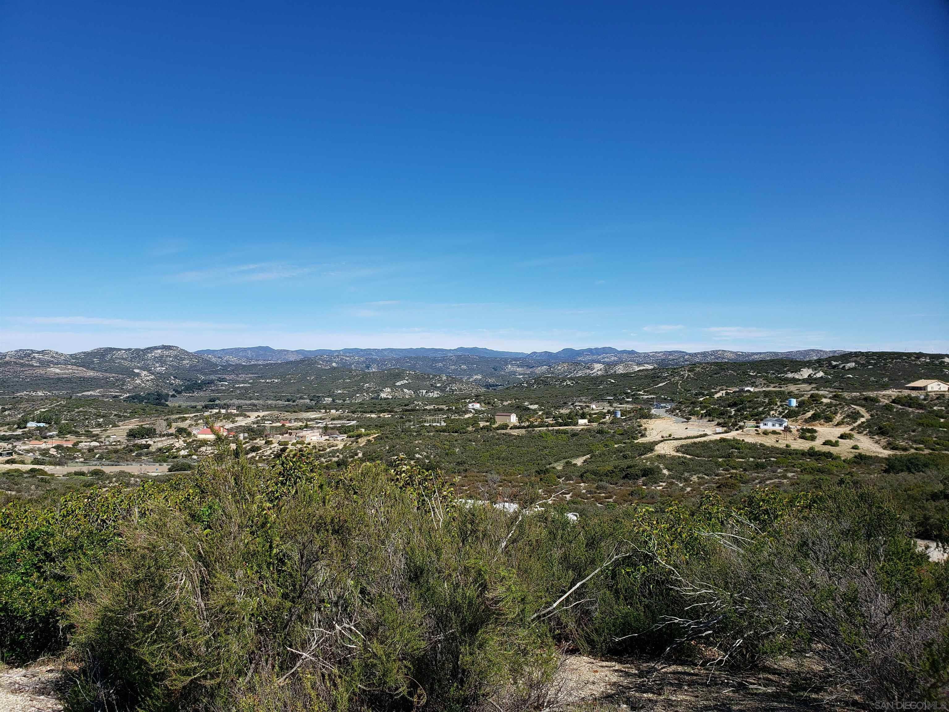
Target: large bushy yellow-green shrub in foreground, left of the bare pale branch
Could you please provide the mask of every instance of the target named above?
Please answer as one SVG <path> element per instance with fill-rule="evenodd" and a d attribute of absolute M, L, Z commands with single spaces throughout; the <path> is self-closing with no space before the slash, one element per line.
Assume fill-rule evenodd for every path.
<path fill-rule="evenodd" d="M 74 706 L 460 709 L 549 680 L 544 601 L 499 547 L 507 515 L 456 508 L 409 465 L 231 459 L 194 488 L 85 572 Z"/>

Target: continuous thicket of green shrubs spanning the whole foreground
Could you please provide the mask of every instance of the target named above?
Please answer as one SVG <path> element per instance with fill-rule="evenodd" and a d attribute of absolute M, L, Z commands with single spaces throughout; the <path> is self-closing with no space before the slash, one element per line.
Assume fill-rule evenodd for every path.
<path fill-rule="evenodd" d="M 25 659 L 68 642 L 73 710 L 541 708 L 558 646 L 688 658 L 694 642 L 714 666 L 809 652 L 867 699 L 945 691 L 949 573 L 907 536 L 949 522 L 942 460 L 686 449 L 824 478 L 855 461 L 902 499 L 826 479 L 732 504 L 573 500 L 574 521 L 563 503 L 462 506 L 403 459 L 257 467 L 222 445 L 164 484 L 0 510 L 0 643 Z M 717 473 L 693 459 L 617 476 Z"/>

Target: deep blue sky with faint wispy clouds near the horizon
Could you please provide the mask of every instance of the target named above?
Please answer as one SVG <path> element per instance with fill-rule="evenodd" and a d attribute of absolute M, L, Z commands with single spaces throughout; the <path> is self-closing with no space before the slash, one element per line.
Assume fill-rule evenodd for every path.
<path fill-rule="evenodd" d="M 0 8 L 0 350 L 949 351 L 940 0 Z"/>

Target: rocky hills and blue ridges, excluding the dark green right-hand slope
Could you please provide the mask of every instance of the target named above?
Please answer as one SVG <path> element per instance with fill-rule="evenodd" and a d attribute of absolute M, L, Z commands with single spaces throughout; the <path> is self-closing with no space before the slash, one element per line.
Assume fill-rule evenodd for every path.
<path fill-rule="evenodd" d="M 381 389 L 394 387 L 403 381 L 408 383 L 405 374 L 414 372 L 427 377 L 413 380 L 414 389 L 419 392 L 477 392 L 483 388 L 523 383 L 539 376 L 596 376 L 662 366 L 770 359 L 810 361 L 842 353 L 844 351 L 818 349 L 763 353 L 723 350 L 638 352 L 613 347 L 531 353 L 478 347 L 336 350 L 250 347 L 204 349 L 192 353 L 179 347 L 159 346 L 94 348 L 65 354 L 27 348 L 0 353 L 0 393 L 121 396 L 143 391 L 187 390 L 209 380 L 227 383 L 229 379 L 250 378 L 250 383 L 265 383 L 272 376 L 277 379 L 273 383 L 286 383 L 285 380 L 294 372 L 306 373 L 307 379 L 321 381 L 323 376 L 320 374 L 326 369 L 334 369 L 336 375 L 333 378 L 339 379 L 344 379 L 344 371 L 350 374 L 349 378 L 353 372 L 401 372 L 392 384 L 384 379 L 377 379 L 378 383 L 367 380 L 366 388 L 369 384 Z"/>

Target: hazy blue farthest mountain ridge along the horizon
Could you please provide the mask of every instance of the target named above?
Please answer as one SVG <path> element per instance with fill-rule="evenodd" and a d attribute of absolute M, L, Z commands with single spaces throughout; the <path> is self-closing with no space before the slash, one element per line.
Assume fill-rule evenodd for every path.
<path fill-rule="evenodd" d="M 298 348 L 271 347 L 235 347 L 235 348 L 203 348 L 195 351 L 196 354 L 209 358 L 218 364 L 270 364 L 284 363 L 311 359 L 317 356 L 348 356 L 367 360 L 372 359 L 439 359 L 453 356 L 479 356 L 490 359 L 530 360 L 550 362 L 555 364 L 579 362 L 602 362 L 609 364 L 637 363 L 652 364 L 668 362 L 679 365 L 688 361 L 695 364 L 707 364 L 718 361 L 765 361 L 768 359 L 793 359 L 807 361 L 828 356 L 837 356 L 845 353 L 842 350 L 823 350 L 808 348 L 798 351 L 634 351 L 614 347 L 592 348 L 562 348 L 559 351 L 495 351 L 491 348 L 458 347 L 458 348 L 317 348 L 307 350 Z"/>

